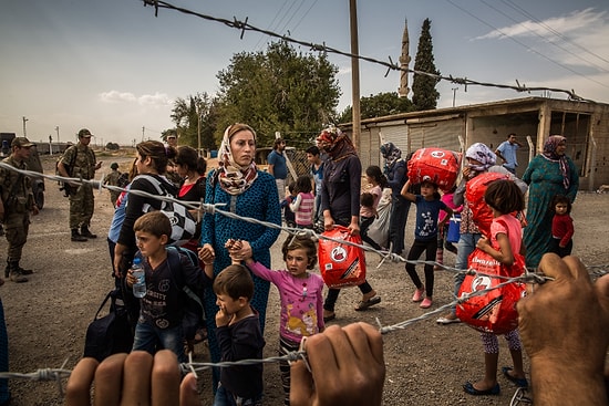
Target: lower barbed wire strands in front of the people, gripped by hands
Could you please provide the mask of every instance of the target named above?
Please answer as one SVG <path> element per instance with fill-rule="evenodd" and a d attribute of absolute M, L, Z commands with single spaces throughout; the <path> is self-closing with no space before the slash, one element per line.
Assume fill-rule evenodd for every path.
<path fill-rule="evenodd" d="M 11 166 L 7 163 L 3 163 L 3 162 L 0 162 L 0 168 L 13 170 L 13 171 L 22 174 L 24 176 L 44 178 L 44 179 L 49 179 L 49 180 L 52 180 L 52 181 L 71 183 L 73 185 L 75 185 L 75 184 L 78 184 L 78 185 L 87 184 L 87 185 L 91 185 L 94 189 L 97 189 L 99 191 L 101 191 L 102 189 L 109 189 L 109 190 L 115 190 L 115 191 L 123 191 L 124 190 L 123 188 L 120 188 L 120 187 L 116 187 L 116 186 L 103 185 L 103 181 L 96 180 L 96 179 L 87 180 L 87 179 L 82 179 L 82 178 L 70 178 L 70 177 L 63 177 L 63 176 L 56 176 L 56 175 L 40 174 L 40 173 L 37 173 L 37 171 L 32 171 L 32 170 L 18 169 L 18 168 L 14 168 L 13 166 Z M 310 237 L 310 238 L 318 239 L 318 240 L 319 239 L 327 239 L 327 240 L 334 241 L 334 242 L 338 242 L 338 243 L 341 243 L 341 244 L 361 248 L 364 251 L 371 251 L 371 252 L 378 253 L 381 258 L 381 261 L 380 261 L 381 263 L 383 263 L 384 261 L 392 261 L 392 262 L 409 262 L 409 263 L 414 263 L 414 264 L 433 264 L 433 266 L 441 267 L 443 270 L 454 272 L 455 274 L 456 273 L 463 273 L 463 274 L 481 275 L 481 277 L 495 278 L 495 279 L 500 279 L 502 280 L 502 282 L 496 284 L 495 287 L 487 288 L 487 289 L 482 289 L 482 290 L 478 290 L 478 291 L 475 291 L 475 292 L 472 292 L 472 293 L 467 293 L 467 294 L 463 294 L 460 298 L 454 298 L 454 300 L 452 302 L 450 302 L 445 305 L 442 305 L 442 306 L 440 306 L 437 309 L 434 309 L 432 311 L 427 311 L 426 313 L 424 313 L 424 314 L 422 314 L 417 317 L 409 319 L 409 320 L 405 320 L 405 321 L 402 321 L 402 322 L 399 322 L 399 323 L 395 323 L 395 324 L 392 324 L 392 325 L 383 325 L 381 323 L 380 319 L 376 317 L 376 324 L 378 324 L 378 327 L 379 327 L 379 332 L 381 332 L 381 334 L 389 334 L 389 333 L 393 333 L 393 332 L 396 332 L 396 331 L 405 330 L 409 326 L 411 326 L 412 324 L 415 324 L 417 322 L 427 320 L 427 319 L 430 319 L 430 317 L 432 317 L 436 314 L 440 314 L 444 311 L 447 311 L 447 310 L 450 310 L 450 309 L 452 309 L 456 305 L 460 305 L 461 303 L 466 302 L 467 300 L 469 300 L 474 296 L 485 295 L 486 293 L 488 293 L 493 290 L 496 290 L 496 289 L 500 289 L 502 287 L 504 287 L 506 284 L 510 284 L 510 283 L 545 283 L 546 281 L 551 280 L 551 278 L 548 278 L 548 277 L 546 277 L 544 274 L 540 274 L 540 273 L 529 272 L 528 270 L 526 270 L 525 273 L 520 277 L 508 278 L 508 277 L 502 277 L 502 275 L 497 275 L 497 274 L 488 274 L 488 273 L 484 273 L 484 272 L 478 272 L 478 271 L 476 271 L 475 269 L 472 269 L 472 268 L 468 269 L 468 270 L 460 270 L 460 269 L 456 269 L 456 268 L 452 268 L 452 267 L 447 267 L 445 264 L 437 263 L 435 261 L 420 261 L 420 260 L 411 261 L 411 260 L 404 259 L 403 257 L 401 257 L 396 253 L 389 253 L 389 252 L 385 252 L 385 251 L 379 251 L 379 250 L 375 250 L 374 248 L 363 246 L 363 244 L 359 244 L 359 243 L 355 243 L 355 242 L 352 242 L 352 241 L 345 241 L 345 240 L 341 240 L 341 239 L 330 238 L 330 237 L 324 236 L 323 233 L 317 233 L 313 230 L 290 228 L 290 227 L 285 227 L 285 226 L 281 226 L 281 225 L 268 222 L 268 221 L 261 221 L 261 220 L 254 219 L 254 218 L 238 216 L 234 212 L 223 210 L 224 204 L 209 205 L 209 204 L 205 204 L 203 201 L 184 201 L 184 200 L 176 199 L 173 196 L 152 195 L 152 194 L 148 194 L 148 192 L 145 192 L 145 191 L 142 191 L 142 190 L 128 190 L 127 192 L 138 195 L 138 196 L 143 196 L 143 197 L 151 198 L 151 199 L 157 199 L 157 200 L 163 200 L 163 201 L 171 201 L 171 202 L 178 204 L 178 205 L 184 205 L 188 209 L 197 210 L 200 215 L 203 215 L 203 214 L 209 214 L 209 215 L 220 214 L 223 216 L 226 216 L 226 217 L 229 217 L 229 218 L 233 218 L 233 219 L 236 219 L 236 220 L 247 221 L 247 222 L 251 222 L 251 223 L 256 223 L 256 225 L 262 225 L 262 226 L 269 227 L 269 228 L 279 229 L 279 230 L 286 231 L 286 232 L 288 232 L 289 235 L 292 235 L 292 236 L 296 236 L 296 235 L 306 236 L 306 237 Z M 609 273 L 609 270 L 608 270 L 609 264 L 592 264 L 592 266 L 587 266 L 587 269 L 589 270 L 589 273 L 590 273 L 590 275 L 593 280 Z M 196 375 L 198 372 L 209 369 L 211 367 L 229 367 L 229 366 L 236 366 L 236 365 L 254 365 L 254 364 L 259 364 L 259 363 L 268 364 L 268 363 L 278 363 L 278 362 L 281 362 L 281 361 L 295 362 L 295 361 L 298 361 L 298 360 L 303 360 L 304 362 L 307 362 L 307 353 L 304 351 L 298 351 L 298 352 L 289 353 L 287 355 L 272 356 L 272 357 L 267 357 L 267 358 L 262 358 L 262 360 L 241 360 L 241 361 L 237 361 L 237 362 L 219 362 L 219 363 L 196 363 L 196 362 L 193 362 L 193 360 L 190 357 L 187 363 L 183 363 L 180 365 L 180 369 L 183 371 L 183 373 L 193 372 Z M 63 396 L 62 379 L 70 377 L 70 374 L 72 372 L 72 371 L 65 368 L 66 363 L 68 363 L 68 360 L 59 368 L 39 368 L 38 371 L 32 372 L 32 373 L 0 372 L 0 378 L 28 379 L 28 381 L 37 381 L 37 382 L 52 382 L 52 381 L 55 381 L 58 383 L 58 391 L 59 391 L 60 395 Z M 531 404 L 530 397 L 528 396 L 527 391 L 524 389 L 524 388 L 518 388 L 516 391 L 516 393 L 514 394 L 514 396 L 512 398 L 510 405 L 518 405 L 520 403 Z"/>

